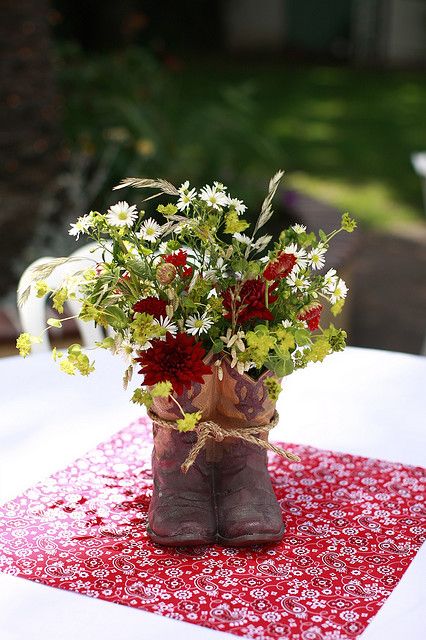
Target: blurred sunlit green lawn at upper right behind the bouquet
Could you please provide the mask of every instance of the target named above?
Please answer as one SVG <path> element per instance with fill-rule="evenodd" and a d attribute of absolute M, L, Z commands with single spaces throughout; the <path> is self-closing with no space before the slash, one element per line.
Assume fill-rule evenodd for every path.
<path fill-rule="evenodd" d="M 287 184 L 371 226 L 424 219 L 410 163 L 411 152 L 426 150 L 424 74 L 217 63 L 181 73 L 192 102 L 244 81 L 255 90 L 259 127 L 279 141 Z"/>

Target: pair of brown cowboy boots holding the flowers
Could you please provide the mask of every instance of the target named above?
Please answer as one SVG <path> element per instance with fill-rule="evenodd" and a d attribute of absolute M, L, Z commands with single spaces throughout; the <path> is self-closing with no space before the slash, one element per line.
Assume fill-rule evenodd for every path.
<path fill-rule="evenodd" d="M 265 377 L 255 381 L 240 375 L 227 361 L 222 368 L 221 381 L 215 372 L 205 377 L 205 384 L 194 384 L 177 398 L 183 409 L 202 411 L 203 420 L 225 429 L 269 423 L 275 406 L 263 384 Z M 160 418 L 179 417 L 171 400 L 156 398 L 152 408 Z M 281 540 L 284 524 L 264 449 L 240 438 L 210 439 L 183 473 L 181 465 L 197 434 L 180 433 L 155 421 L 153 429 L 148 534 L 154 542 L 246 546 Z"/>

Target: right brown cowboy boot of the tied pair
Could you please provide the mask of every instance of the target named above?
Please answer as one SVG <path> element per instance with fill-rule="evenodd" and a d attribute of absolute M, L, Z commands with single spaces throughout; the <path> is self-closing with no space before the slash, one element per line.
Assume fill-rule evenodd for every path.
<path fill-rule="evenodd" d="M 224 428 L 268 424 L 275 404 L 263 382 L 271 374 L 253 380 L 232 369 L 227 360 L 222 361 L 222 370 L 214 419 Z M 226 438 L 219 447 L 214 470 L 218 542 L 247 546 L 280 541 L 285 527 L 265 449 L 240 438 Z"/>

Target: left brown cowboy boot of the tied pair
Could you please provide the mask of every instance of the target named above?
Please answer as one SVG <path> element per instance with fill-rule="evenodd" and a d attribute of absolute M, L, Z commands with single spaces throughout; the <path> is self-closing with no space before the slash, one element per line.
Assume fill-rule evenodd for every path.
<path fill-rule="evenodd" d="M 194 384 L 177 397 L 186 412 L 202 411 L 208 418 L 213 394 L 209 379 Z M 155 398 L 153 411 L 166 420 L 181 417 L 176 404 Z M 213 465 L 202 451 L 187 473 L 181 470 L 197 436 L 173 428 L 153 425 L 153 495 L 148 510 L 148 535 L 158 544 L 179 546 L 212 544 L 216 539 L 216 515 L 213 502 Z"/>

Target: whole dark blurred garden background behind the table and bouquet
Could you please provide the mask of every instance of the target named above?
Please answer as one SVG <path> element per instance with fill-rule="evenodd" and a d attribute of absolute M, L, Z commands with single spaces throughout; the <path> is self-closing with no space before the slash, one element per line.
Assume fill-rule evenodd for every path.
<path fill-rule="evenodd" d="M 3 0 L 0 46 L 0 353 L 19 274 L 121 178 L 220 180 L 254 218 L 278 168 L 272 231 L 359 222 L 350 344 L 424 348 L 424 0 Z"/>

